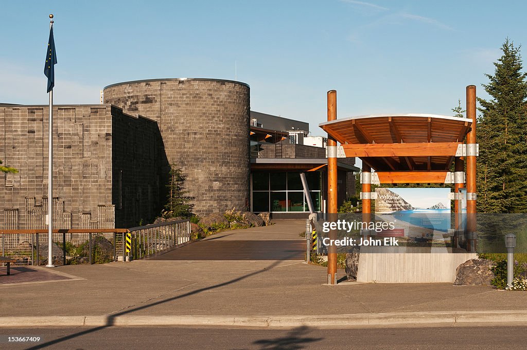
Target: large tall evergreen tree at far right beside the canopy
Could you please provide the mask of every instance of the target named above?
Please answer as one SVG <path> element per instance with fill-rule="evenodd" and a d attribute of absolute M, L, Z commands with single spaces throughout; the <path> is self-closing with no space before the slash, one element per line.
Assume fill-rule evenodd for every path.
<path fill-rule="evenodd" d="M 494 75 L 485 74 L 489 83 L 483 84 L 492 99 L 478 99 L 482 114 L 477 121 L 477 206 L 482 212 L 525 212 L 527 74 L 521 72 L 520 47 L 507 38 L 501 50 Z"/>

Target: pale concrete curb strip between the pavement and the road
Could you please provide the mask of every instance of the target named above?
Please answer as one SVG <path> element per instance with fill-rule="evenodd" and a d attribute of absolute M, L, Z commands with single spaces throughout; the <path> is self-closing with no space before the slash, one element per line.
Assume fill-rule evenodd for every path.
<path fill-rule="evenodd" d="M 0 317 L 1 327 L 436 327 L 438 325 L 526 324 L 527 310 L 414 312 L 293 316 L 13 316 Z"/>

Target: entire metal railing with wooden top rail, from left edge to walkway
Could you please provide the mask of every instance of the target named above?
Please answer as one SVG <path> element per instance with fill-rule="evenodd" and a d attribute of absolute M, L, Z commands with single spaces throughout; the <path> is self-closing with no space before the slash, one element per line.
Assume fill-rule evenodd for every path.
<path fill-rule="evenodd" d="M 126 241 L 130 249 L 126 249 Z M 178 220 L 131 229 L 53 230 L 54 265 L 102 264 L 141 259 L 190 240 L 190 221 Z M 47 230 L 0 229 L 0 254 L 16 259 L 15 265 L 47 263 Z M 128 257 L 128 258 L 127 258 Z"/>

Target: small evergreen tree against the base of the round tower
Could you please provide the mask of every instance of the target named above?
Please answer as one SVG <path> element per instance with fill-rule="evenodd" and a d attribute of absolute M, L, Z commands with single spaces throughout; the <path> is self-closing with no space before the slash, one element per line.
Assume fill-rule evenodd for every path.
<path fill-rule="evenodd" d="M 193 203 L 190 203 L 194 197 L 188 196 L 188 191 L 184 190 L 183 184 L 187 177 L 184 176 L 183 170 L 171 166 L 169 173 L 168 198 L 164 218 L 190 218 L 192 216 Z"/>

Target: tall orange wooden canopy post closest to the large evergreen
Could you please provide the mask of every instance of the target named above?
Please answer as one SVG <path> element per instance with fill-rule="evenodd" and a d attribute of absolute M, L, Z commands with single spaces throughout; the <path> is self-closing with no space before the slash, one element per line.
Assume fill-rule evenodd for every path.
<path fill-rule="evenodd" d="M 472 128 L 466 137 L 467 251 L 476 251 L 476 86 L 466 87 L 466 116 Z"/>

